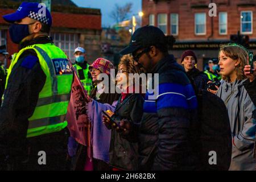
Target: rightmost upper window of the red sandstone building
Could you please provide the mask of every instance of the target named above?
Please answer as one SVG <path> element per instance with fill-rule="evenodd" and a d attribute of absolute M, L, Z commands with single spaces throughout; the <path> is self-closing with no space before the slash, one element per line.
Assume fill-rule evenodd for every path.
<path fill-rule="evenodd" d="M 253 12 L 241 11 L 241 33 L 253 34 Z"/>

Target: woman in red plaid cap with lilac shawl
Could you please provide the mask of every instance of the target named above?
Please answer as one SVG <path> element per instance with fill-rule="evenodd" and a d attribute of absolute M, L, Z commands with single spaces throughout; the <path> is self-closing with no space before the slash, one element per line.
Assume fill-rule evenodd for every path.
<path fill-rule="evenodd" d="M 91 102 L 88 103 L 88 117 L 92 123 L 91 136 L 92 136 L 92 148 L 93 148 L 93 170 L 94 171 L 109 171 L 109 145 L 110 145 L 110 130 L 106 129 L 102 122 L 102 110 L 113 109 L 114 105 L 118 101 L 120 94 L 117 92 L 110 92 L 110 70 L 114 69 L 114 65 L 111 61 L 104 58 L 98 58 L 89 66 L 90 74 L 92 75 L 92 81 L 94 88 L 90 92 Z M 104 80 L 100 78 L 100 74 L 108 75 L 109 90 L 104 85 Z M 114 104 L 115 103 L 115 104 Z M 114 105 L 113 105 L 114 104 Z M 112 106 L 113 105 L 113 106 Z M 108 108 L 108 109 L 106 109 Z M 85 168 L 85 156 L 86 147 L 79 145 L 77 147 L 75 156 L 75 163 L 73 169 L 84 170 Z"/>

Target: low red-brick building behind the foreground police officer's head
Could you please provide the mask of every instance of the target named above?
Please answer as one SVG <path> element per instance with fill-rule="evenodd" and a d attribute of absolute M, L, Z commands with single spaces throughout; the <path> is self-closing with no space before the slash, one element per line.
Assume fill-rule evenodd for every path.
<path fill-rule="evenodd" d="M 2 15 L 16 11 L 21 2 L 0 1 L 0 45 L 6 44 L 10 55 L 18 51 L 18 45 L 11 42 L 8 31 L 9 23 L 3 20 Z M 52 0 L 51 14 L 53 42 L 63 49 L 72 60 L 73 51 L 78 46 L 84 47 L 88 52 L 89 63 L 101 56 L 100 9 L 77 7 L 69 0 Z"/>

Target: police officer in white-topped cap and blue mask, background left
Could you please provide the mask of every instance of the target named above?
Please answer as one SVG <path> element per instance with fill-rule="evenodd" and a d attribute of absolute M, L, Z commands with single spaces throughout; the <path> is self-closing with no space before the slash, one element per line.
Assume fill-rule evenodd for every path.
<path fill-rule="evenodd" d="M 86 51 L 82 47 L 77 47 L 74 51 L 74 56 L 76 59 L 76 63 L 73 65 L 77 75 L 84 85 L 85 90 L 90 94 L 90 90 L 92 90 L 92 76 L 89 71 L 89 64 L 86 61 Z"/>

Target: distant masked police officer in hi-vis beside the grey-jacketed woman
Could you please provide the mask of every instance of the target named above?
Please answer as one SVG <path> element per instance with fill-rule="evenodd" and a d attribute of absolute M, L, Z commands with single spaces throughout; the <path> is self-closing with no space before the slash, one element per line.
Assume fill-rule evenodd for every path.
<path fill-rule="evenodd" d="M 208 61 L 209 68 L 204 72 L 209 80 L 211 81 L 220 81 L 221 76 L 218 74 L 218 71 L 220 70 L 220 67 L 218 66 L 218 59 L 210 59 Z"/>

